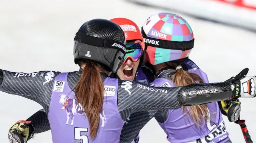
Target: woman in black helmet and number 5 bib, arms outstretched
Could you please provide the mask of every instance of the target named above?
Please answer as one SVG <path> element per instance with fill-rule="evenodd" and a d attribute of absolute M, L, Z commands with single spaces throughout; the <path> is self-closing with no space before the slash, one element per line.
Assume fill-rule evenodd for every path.
<path fill-rule="evenodd" d="M 240 83 L 240 79 L 235 79 L 223 83 L 160 88 L 109 78 L 112 71 L 118 70 L 125 54 L 124 33 L 109 20 L 93 19 L 84 23 L 74 41 L 75 63 L 80 66 L 78 72 L 41 71 L 26 74 L 0 71 L 1 91 L 26 97 L 44 106 L 54 143 L 77 140 L 119 142 L 124 121 L 131 113 L 220 101 L 236 96 L 233 83 Z M 41 78 L 42 75 L 45 78 Z M 255 77 L 241 80 L 251 78 Z M 190 91 L 198 89 L 221 92 L 209 93 L 207 97 L 205 94 L 189 97 Z M 247 95 L 241 93 L 238 96 Z M 205 100 L 197 102 L 195 99 L 198 97 Z M 15 134 L 13 131 L 11 139 L 20 140 L 17 138 L 20 136 Z"/>

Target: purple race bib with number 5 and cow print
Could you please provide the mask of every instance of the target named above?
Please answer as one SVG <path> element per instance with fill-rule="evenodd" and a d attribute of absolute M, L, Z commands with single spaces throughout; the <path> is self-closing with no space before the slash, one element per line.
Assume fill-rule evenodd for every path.
<path fill-rule="evenodd" d="M 105 92 L 97 136 L 89 135 L 89 121 L 75 93 L 67 82 L 68 73 L 60 73 L 54 80 L 48 119 L 53 143 L 57 142 L 109 142 L 119 143 L 124 121 L 117 107 L 118 80 L 107 77 L 103 82 Z"/>

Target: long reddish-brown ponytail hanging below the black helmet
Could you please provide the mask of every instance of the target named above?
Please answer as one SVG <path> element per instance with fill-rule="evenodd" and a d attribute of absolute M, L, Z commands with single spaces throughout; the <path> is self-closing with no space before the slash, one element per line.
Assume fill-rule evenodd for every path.
<path fill-rule="evenodd" d="M 103 104 L 104 85 L 100 75 L 100 66 L 91 61 L 86 63 L 76 84 L 75 97 L 87 114 L 90 123 L 90 136 L 95 138 Z"/>

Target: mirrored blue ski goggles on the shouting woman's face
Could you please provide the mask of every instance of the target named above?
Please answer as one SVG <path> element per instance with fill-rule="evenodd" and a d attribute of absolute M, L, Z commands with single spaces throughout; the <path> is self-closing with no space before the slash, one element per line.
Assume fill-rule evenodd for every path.
<path fill-rule="evenodd" d="M 126 62 L 127 59 L 131 59 L 131 61 L 133 62 L 137 62 L 142 54 L 143 54 L 143 50 L 142 50 L 142 43 L 139 41 L 135 41 L 134 43 L 127 43 L 126 44 L 126 54 L 124 56 L 124 62 Z"/>

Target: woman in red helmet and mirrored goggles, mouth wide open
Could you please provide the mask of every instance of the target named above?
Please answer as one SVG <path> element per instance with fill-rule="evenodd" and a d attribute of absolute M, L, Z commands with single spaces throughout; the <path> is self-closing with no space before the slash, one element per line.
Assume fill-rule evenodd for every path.
<path fill-rule="evenodd" d="M 110 21 L 115 22 L 122 28 L 126 38 L 126 54 L 124 56 L 124 62 L 118 71 L 116 73 L 112 73 L 110 76 L 121 80 L 134 80 L 145 84 L 154 81 L 152 71 L 147 67 L 142 66 L 144 40 L 138 25 L 127 18 L 113 18 L 110 19 Z M 129 119 L 126 120 L 126 123 L 128 120 Z M 25 128 L 21 128 L 20 126 L 25 126 Z M 9 132 L 18 130 L 20 134 L 24 135 L 24 140 L 28 140 L 27 138 L 29 137 L 29 134 L 41 133 L 50 129 L 51 127 L 47 114 L 44 109 L 41 109 L 26 121 L 19 121 L 18 123 L 15 123 L 9 129 Z"/>

